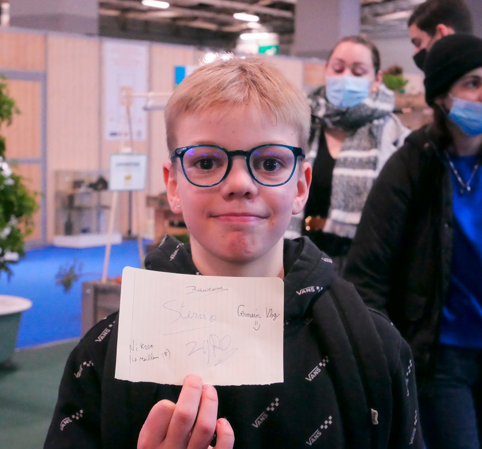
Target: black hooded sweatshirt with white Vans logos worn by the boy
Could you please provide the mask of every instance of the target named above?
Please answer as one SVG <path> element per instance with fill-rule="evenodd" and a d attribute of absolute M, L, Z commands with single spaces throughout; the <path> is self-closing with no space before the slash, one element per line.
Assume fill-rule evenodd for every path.
<path fill-rule="evenodd" d="M 197 273 L 189 246 L 169 237 L 148 255 L 146 267 Z M 284 267 L 284 382 L 217 387 L 218 416 L 231 423 L 235 448 L 423 448 L 411 352 L 400 334 L 381 314 L 368 313 L 308 239 L 285 241 Z M 336 292 L 348 315 L 358 310 L 363 318 L 347 318 L 360 323 L 350 335 L 336 310 Z M 151 407 L 163 398 L 177 400 L 178 386 L 114 378 L 116 319 L 96 324 L 70 355 L 45 448 L 135 448 Z M 349 341 L 354 335 L 361 343 L 357 333 L 370 327 L 376 341 L 357 346 L 369 365 L 359 373 Z M 365 398 L 367 379 L 360 381 L 370 369 L 369 380 L 384 393 L 378 402 L 371 399 L 376 389 Z"/>

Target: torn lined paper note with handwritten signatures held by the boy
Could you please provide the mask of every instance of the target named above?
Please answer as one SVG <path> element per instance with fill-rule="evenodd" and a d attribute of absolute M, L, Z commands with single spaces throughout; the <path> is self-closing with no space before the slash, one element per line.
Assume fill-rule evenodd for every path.
<path fill-rule="evenodd" d="M 126 267 L 115 377 L 182 385 L 283 382 L 283 281 Z"/>

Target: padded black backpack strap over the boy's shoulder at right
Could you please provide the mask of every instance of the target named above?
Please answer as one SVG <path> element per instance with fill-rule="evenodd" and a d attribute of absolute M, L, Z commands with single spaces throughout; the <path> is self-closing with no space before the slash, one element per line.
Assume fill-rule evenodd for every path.
<path fill-rule="evenodd" d="M 351 283 L 336 277 L 330 289 L 315 301 L 313 318 L 330 360 L 345 428 L 349 429 L 348 447 L 387 448 L 393 403 L 391 379 L 367 306 Z"/>

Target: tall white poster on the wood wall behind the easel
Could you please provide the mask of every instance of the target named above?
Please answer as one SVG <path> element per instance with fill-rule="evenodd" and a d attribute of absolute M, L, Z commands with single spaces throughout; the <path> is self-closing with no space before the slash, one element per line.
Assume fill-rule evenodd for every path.
<path fill-rule="evenodd" d="M 123 98 L 125 92 L 148 91 L 148 46 L 104 41 L 104 92 L 106 140 L 130 140 L 126 101 L 130 105 L 132 140 L 147 139 L 147 114 L 142 97 Z"/>

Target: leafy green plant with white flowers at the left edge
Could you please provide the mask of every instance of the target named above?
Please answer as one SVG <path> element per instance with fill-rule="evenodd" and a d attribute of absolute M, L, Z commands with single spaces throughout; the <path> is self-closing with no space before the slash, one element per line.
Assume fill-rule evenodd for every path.
<path fill-rule="evenodd" d="M 8 96 L 5 78 L 0 77 L 0 132 L 16 113 L 19 109 Z M 5 138 L 0 134 L 0 278 L 2 272 L 10 276 L 10 265 L 25 256 L 24 240 L 33 230 L 32 216 L 38 208 L 35 196 L 14 173 L 5 151 Z"/>

